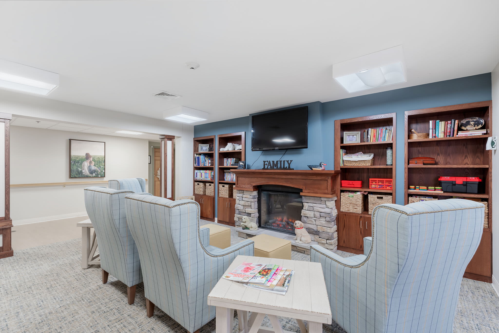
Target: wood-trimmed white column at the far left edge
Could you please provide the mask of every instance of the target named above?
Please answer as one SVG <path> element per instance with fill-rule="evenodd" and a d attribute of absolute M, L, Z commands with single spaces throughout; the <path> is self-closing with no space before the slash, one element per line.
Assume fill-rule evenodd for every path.
<path fill-rule="evenodd" d="M 0 259 L 6 257 L 12 257 L 14 252 L 12 251 L 10 234 L 12 229 L 12 220 L 10 220 L 10 119 L 12 119 L 11 114 L 0 113 L 0 147 L 3 147 L 3 152 L 0 148 L 0 156 L 3 154 L 3 158 L 0 157 L 0 191 L 1 187 L 4 187 L 4 192 L 0 194 L 0 235 L 2 235 L 1 246 L 0 246 Z M 3 141 L 3 142 L 1 142 Z M 3 161 L 1 161 L 3 159 Z M 3 163 L 1 163 L 3 162 Z M 4 177 L 1 177 L 1 174 Z"/>

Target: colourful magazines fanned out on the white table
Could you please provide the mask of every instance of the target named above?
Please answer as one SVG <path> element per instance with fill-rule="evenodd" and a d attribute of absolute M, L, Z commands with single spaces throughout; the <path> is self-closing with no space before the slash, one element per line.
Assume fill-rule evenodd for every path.
<path fill-rule="evenodd" d="M 223 278 L 248 288 L 285 295 L 294 271 L 274 264 L 242 263 Z"/>

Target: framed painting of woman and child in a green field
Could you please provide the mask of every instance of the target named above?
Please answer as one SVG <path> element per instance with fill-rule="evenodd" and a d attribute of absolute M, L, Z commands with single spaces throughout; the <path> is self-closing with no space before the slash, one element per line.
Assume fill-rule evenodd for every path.
<path fill-rule="evenodd" d="M 69 139 L 69 178 L 105 177 L 106 143 Z"/>

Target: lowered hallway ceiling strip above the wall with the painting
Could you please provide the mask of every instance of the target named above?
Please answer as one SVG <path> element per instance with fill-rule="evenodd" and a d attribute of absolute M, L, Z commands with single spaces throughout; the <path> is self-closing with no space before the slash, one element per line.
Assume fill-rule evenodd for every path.
<path fill-rule="evenodd" d="M 146 139 L 151 141 L 159 141 L 159 134 L 125 134 L 116 133 L 116 131 L 121 131 L 122 129 L 109 128 L 109 127 L 92 127 L 72 123 L 64 123 L 57 121 L 50 121 L 46 119 L 38 118 L 25 118 L 25 117 L 12 117 L 10 121 L 12 126 L 24 126 L 24 127 L 36 127 L 45 129 L 56 129 L 59 131 L 69 131 L 69 132 L 80 132 L 89 134 L 101 134 L 101 135 L 113 135 L 113 136 L 124 136 L 128 138 L 136 139 Z M 125 129 L 126 130 L 126 129 Z"/>

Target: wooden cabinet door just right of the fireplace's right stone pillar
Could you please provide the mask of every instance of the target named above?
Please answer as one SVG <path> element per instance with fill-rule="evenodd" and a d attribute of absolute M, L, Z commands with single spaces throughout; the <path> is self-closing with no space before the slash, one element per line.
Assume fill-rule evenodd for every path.
<path fill-rule="evenodd" d="M 338 246 L 357 251 L 363 249 L 362 216 L 358 214 L 339 213 L 336 219 L 338 228 Z"/>

